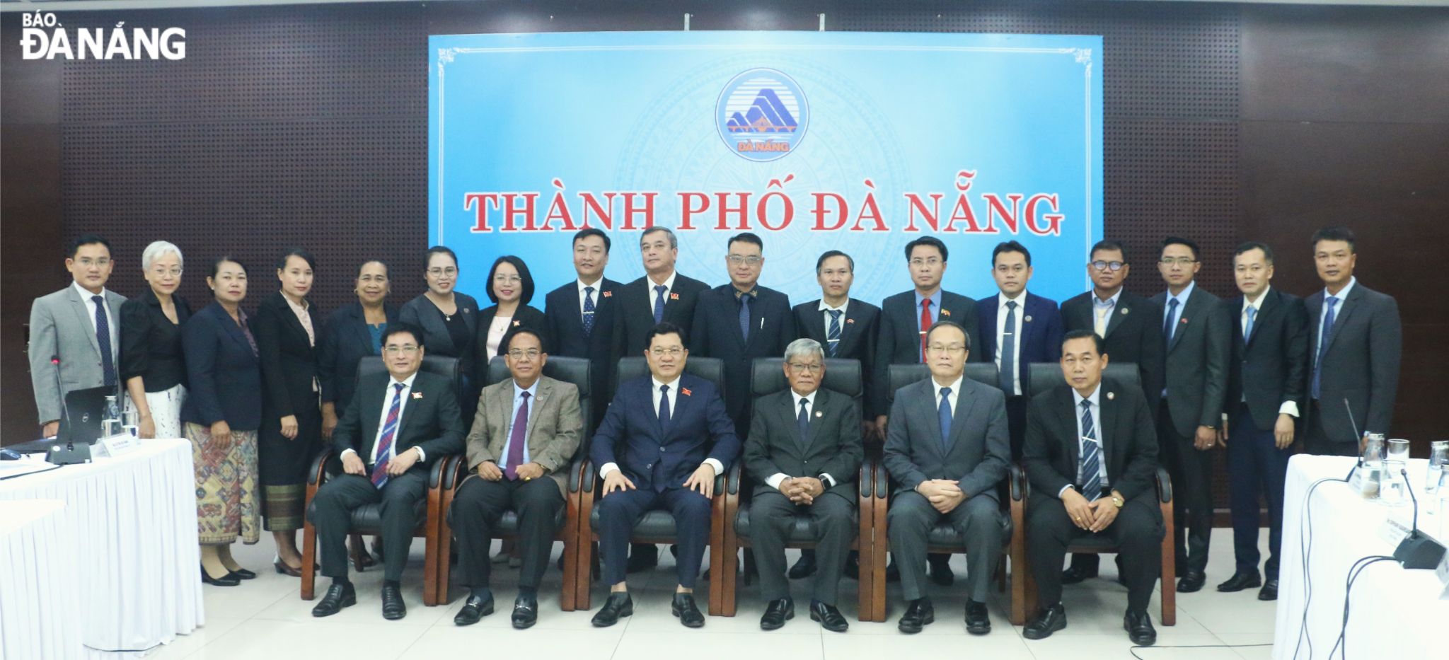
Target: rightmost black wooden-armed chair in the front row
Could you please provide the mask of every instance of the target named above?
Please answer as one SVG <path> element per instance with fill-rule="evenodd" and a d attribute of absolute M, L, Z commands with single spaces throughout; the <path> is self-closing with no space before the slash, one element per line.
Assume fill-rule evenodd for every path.
<path fill-rule="evenodd" d="M 1052 388 L 1065 388 L 1066 379 L 1062 375 L 1062 366 L 1053 362 L 1039 362 L 1030 365 L 1032 384 L 1030 395 L 1046 392 Z M 1140 389 L 1142 379 L 1137 371 L 1137 365 L 1132 362 L 1111 362 L 1103 369 L 1101 373 L 1103 385 L 1108 388 L 1130 388 Z M 1030 496 L 1032 486 L 1023 481 L 1022 486 L 1023 498 Z M 1177 625 L 1177 583 L 1172 576 L 1177 570 L 1177 553 L 1172 549 L 1172 479 L 1168 476 L 1168 470 L 1158 466 L 1158 505 L 1162 508 L 1162 524 L 1166 527 L 1166 534 L 1162 536 L 1162 625 Z M 1071 553 L 1114 553 L 1117 547 L 1111 544 L 1110 540 L 1100 536 L 1078 536 L 1072 540 L 1072 544 L 1066 547 Z M 1027 591 L 1027 598 L 1030 599 L 1029 611 L 1036 611 L 1036 583 L 1033 580 L 1032 588 Z"/>

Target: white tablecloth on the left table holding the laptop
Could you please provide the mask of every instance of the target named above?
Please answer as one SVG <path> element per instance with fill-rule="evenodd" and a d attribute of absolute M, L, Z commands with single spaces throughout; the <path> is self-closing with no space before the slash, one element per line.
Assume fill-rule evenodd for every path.
<path fill-rule="evenodd" d="M 65 502 L 75 591 L 55 598 L 72 598 L 87 647 L 143 651 L 204 622 L 190 441 L 0 481 L 0 505 L 10 499 Z"/>

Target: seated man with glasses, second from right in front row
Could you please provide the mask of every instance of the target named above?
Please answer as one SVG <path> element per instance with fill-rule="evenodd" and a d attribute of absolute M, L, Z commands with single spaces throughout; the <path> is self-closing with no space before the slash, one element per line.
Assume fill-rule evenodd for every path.
<path fill-rule="evenodd" d="M 895 482 L 887 514 L 891 551 L 910 602 L 897 627 L 920 632 L 936 618 L 926 595 L 926 537 L 942 518 L 966 538 L 966 631 L 991 631 L 987 592 L 1001 556 L 997 485 L 1011 460 L 1001 389 L 964 378 L 971 337 L 952 321 L 926 333 L 930 378 L 895 392 L 885 469 Z"/>

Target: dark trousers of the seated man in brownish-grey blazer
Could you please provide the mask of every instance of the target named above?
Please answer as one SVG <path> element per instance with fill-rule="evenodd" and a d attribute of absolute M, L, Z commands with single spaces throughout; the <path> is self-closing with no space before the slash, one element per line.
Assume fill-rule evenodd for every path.
<path fill-rule="evenodd" d="M 493 562 L 493 546 L 498 518 L 513 509 L 519 515 L 517 541 L 523 566 L 519 586 L 538 589 L 548 569 L 548 556 L 558 534 L 558 517 L 564 509 L 564 495 L 558 482 L 549 478 L 523 481 L 507 478 L 496 482 L 469 476 L 454 495 L 448 524 L 458 534 L 458 564 L 469 589 L 485 589 Z"/>

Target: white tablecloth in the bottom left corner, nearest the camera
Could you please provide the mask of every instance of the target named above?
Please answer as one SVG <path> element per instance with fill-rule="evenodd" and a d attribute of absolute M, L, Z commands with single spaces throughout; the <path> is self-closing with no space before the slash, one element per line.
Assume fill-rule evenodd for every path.
<path fill-rule="evenodd" d="M 81 657 L 64 515 L 59 499 L 0 502 L 0 659 Z"/>

